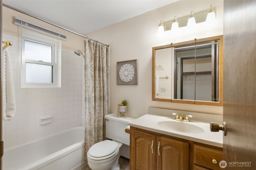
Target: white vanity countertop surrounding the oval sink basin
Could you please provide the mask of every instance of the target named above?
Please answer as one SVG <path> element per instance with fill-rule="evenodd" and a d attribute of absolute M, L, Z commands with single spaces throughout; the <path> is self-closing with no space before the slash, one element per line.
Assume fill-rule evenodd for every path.
<path fill-rule="evenodd" d="M 171 129 L 166 129 L 160 127 L 157 123 L 160 121 L 177 121 L 174 117 L 165 117 L 158 115 L 143 115 L 133 121 L 129 122 L 129 125 L 132 127 L 137 127 L 140 129 L 145 129 L 148 131 L 153 131 L 156 133 L 161 133 L 164 135 L 170 135 L 173 137 L 178 137 L 182 139 L 187 139 L 190 141 L 195 141 L 199 143 L 204 143 L 216 147 L 223 147 L 223 132 L 211 132 L 210 131 L 210 123 L 202 123 L 193 121 L 193 118 L 190 119 L 191 122 L 182 122 L 182 123 L 192 123 L 204 129 L 203 133 L 192 134 L 192 133 L 181 133 L 177 131 L 172 131 Z M 171 122 L 170 122 L 171 123 Z"/>

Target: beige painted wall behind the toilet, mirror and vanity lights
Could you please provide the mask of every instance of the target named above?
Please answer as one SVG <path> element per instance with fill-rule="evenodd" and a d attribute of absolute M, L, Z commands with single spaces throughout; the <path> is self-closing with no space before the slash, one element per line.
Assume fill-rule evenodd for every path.
<path fill-rule="evenodd" d="M 218 29 L 215 31 L 201 31 L 186 36 L 184 33 L 176 37 L 156 37 L 160 20 L 166 22 L 172 21 L 174 16 L 188 17 L 191 10 L 194 14 L 205 12 L 209 10 L 210 5 L 215 10 L 218 20 Z M 131 117 L 140 117 L 148 113 L 149 106 L 222 114 L 222 107 L 151 100 L 152 47 L 215 35 L 223 35 L 223 0 L 181 0 L 88 33 L 86 36 L 110 45 L 110 112 L 117 113 L 117 104 L 126 99 L 128 100 L 128 115 Z M 132 59 L 138 59 L 138 85 L 116 85 L 116 62 Z"/>

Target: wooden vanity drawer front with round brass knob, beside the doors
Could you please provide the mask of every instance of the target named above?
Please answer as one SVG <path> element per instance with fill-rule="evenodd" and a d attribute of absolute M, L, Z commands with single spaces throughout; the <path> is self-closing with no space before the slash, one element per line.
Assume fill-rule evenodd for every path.
<path fill-rule="evenodd" d="M 221 150 L 194 145 L 194 164 L 213 170 L 222 170 L 219 166 L 221 160 L 223 160 Z"/>

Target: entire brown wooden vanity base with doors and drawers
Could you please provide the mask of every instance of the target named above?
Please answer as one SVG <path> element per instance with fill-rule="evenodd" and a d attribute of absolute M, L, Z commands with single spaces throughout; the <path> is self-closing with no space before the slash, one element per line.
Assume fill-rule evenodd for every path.
<path fill-rule="evenodd" d="M 130 127 L 130 170 L 222 170 L 222 148 Z"/>

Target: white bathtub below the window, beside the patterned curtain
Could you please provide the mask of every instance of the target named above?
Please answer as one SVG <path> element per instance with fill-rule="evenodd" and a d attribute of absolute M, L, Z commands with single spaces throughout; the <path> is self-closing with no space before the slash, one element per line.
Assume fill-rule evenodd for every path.
<path fill-rule="evenodd" d="M 84 126 L 4 150 L 3 170 L 78 170 L 84 161 Z"/>

